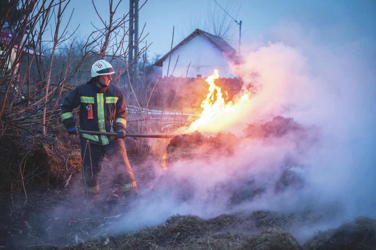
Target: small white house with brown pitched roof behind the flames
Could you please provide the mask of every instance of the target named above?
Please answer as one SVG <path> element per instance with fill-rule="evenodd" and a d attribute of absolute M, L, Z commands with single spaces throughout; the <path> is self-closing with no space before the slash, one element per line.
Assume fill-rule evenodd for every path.
<path fill-rule="evenodd" d="M 217 68 L 220 77 L 230 78 L 236 77 L 230 66 L 235 64 L 240 64 L 240 57 L 231 45 L 219 36 L 196 29 L 154 65 L 162 67 L 163 77 L 206 78 Z"/>

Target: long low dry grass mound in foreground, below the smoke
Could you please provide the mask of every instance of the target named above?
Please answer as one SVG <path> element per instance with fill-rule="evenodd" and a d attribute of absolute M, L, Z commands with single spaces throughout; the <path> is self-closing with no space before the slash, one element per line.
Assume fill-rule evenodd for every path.
<path fill-rule="evenodd" d="M 262 216 L 262 219 L 260 218 Z M 273 216 L 272 216 L 273 215 Z M 222 214 L 205 220 L 194 215 L 174 215 L 164 224 L 135 233 L 88 240 L 65 250 L 91 249 L 303 249 L 279 227 L 288 215 L 254 211 L 252 214 Z M 299 217 L 302 218 L 302 217 Z M 264 224 L 262 224 L 264 223 Z M 293 226 L 293 225 L 291 225 Z M 259 233 L 259 229 L 262 232 Z"/>

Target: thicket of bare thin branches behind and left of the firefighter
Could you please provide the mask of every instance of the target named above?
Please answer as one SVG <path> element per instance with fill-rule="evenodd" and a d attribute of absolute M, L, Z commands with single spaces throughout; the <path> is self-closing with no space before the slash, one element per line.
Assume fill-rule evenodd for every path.
<path fill-rule="evenodd" d="M 17 180 L 18 186 L 25 187 L 27 183 L 33 183 L 32 176 L 38 176 L 34 173 L 35 164 L 29 162 L 32 158 L 30 156 L 35 152 L 44 152 L 47 158 L 54 157 L 51 154 L 54 147 L 50 144 L 51 141 L 56 143 L 58 137 L 64 139 L 61 109 L 58 105 L 60 98 L 84 81 L 83 76 L 92 62 L 106 59 L 117 66 L 113 82 L 121 88 L 127 84 L 132 90 L 132 86 L 138 84 L 130 81 L 127 65 L 129 13 L 118 19 L 114 18 L 120 2 L 121 0 L 114 4 L 114 1 L 109 1 L 106 17 L 97 12 L 103 25 L 94 27 L 93 32 L 84 39 L 74 38 L 66 32 L 66 27 L 60 27 L 70 0 L 9 0 L 8 4 L 2 6 L 0 29 L 12 36 L 1 38 L 0 140 L 10 143 L 15 139 L 9 145 L 18 145 L 18 149 L 13 153 L 9 152 L 8 157 L 14 158 L 17 154 L 24 157 L 19 162 L 19 172 L 9 165 L 2 173 L 5 177 L 0 179 Z M 96 8 L 94 1 L 93 5 Z M 17 13 L 17 18 L 12 16 L 14 13 Z M 52 24 L 54 17 L 56 22 Z M 42 39 L 47 26 L 52 27 L 54 33 L 49 43 Z M 135 41 L 135 46 L 140 47 L 137 57 L 142 57 L 147 50 L 147 46 L 143 45 L 146 35 L 142 33 L 139 35 L 141 39 Z M 138 93 L 133 90 L 131 94 L 134 105 L 138 107 L 137 114 L 145 120 L 144 111 L 138 102 Z M 26 142 L 25 138 L 28 138 Z M 7 145 L 2 144 L 1 150 L 8 152 Z M 61 155 L 62 159 L 64 157 L 67 154 Z M 50 162 L 45 162 L 39 169 L 49 167 L 49 164 Z M 17 185 L 9 186 L 15 188 Z"/>

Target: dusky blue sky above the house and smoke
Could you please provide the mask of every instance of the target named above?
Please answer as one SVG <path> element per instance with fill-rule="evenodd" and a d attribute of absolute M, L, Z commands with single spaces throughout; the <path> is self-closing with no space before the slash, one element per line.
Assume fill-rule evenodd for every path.
<path fill-rule="evenodd" d="M 114 1 L 117 2 L 117 1 Z M 267 43 L 273 40 L 270 30 L 281 23 L 299 23 L 308 30 L 317 30 L 316 38 L 323 42 L 341 44 L 362 38 L 376 38 L 376 1 L 250 1 L 218 0 L 221 6 L 233 9 L 230 12 L 237 21 L 242 21 L 242 44 Z M 108 1 L 94 1 L 103 19 L 108 21 Z M 140 1 L 141 6 L 144 3 Z M 70 30 L 80 24 L 79 34 L 85 37 L 94 30 L 92 24 L 102 27 L 90 0 L 72 0 L 67 12 L 75 8 Z M 164 55 L 171 46 L 172 30 L 175 27 L 174 45 L 193 31 L 195 21 L 205 21 L 209 9 L 216 8 L 214 0 L 149 0 L 139 12 L 139 26 L 146 24 L 146 38 L 151 55 Z M 120 3 L 116 17 L 129 10 L 129 1 Z M 82 18 L 84 17 L 84 18 Z M 65 16 L 68 18 L 68 15 Z M 239 26 L 233 21 L 234 38 L 229 41 L 235 48 Z M 288 42 L 288 41 L 285 41 Z"/>

